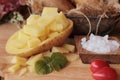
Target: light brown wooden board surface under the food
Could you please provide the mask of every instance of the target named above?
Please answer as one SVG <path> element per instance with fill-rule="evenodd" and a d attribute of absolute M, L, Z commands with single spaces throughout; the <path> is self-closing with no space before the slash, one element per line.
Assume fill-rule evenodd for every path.
<path fill-rule="evenodd" d="M 15 25 L 4 24 L 0 26 L 0 75 L 5 80 L 93 80 L 89 64 L 83 64 L 80 59 L 70 63 L 66 68 L 59 72 L 52 72 L 48 75 L 37 75 L 35 73 L 26 73 L 24 76 L 18 74 L 5 73 L 11 56 L 5 52 L 5 44 L 7 39 L 18 30 Z M 119 76 L 120 80 L 120 64 L 111 64 Z"/>

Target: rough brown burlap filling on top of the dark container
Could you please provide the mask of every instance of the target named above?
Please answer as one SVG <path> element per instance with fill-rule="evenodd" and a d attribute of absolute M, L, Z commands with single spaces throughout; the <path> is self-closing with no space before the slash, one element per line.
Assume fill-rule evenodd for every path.
<path fill-rule="evenodd" d="M 87 16 L 99 16 L 103 13 L 115 14 L 120 11 L 119 0 L 73 0 L 76 4 L 76 10 L 79 10 Z M 75 15 L 75 14 L 74 14 Z M 80 13 L 78 14 L 80 15 Z"/>

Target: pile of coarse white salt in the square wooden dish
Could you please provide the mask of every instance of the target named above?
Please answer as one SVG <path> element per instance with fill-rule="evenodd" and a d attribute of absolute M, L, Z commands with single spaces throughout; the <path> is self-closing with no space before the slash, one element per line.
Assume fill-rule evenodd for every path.
<path fill-rule="evenodd" d="M 120 43 L 115 40 L 108 40 L 108 37 L 108 35 L 102 37 L 91 34 L 89 40 L 86 38 L 81 39 L 82 48 L 103 54 L 117 50 L 120 47 Z"/>

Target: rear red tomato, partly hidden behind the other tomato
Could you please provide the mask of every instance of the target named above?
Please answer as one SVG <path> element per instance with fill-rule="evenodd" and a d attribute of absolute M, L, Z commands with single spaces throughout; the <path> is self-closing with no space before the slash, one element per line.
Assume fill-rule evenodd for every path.
<path fill-rule="evenodd" d="M 103 67 L 109 67 L 109 64 L 103 60 L 95 59 L 90 65 L 90 70 L 95 73 Z"/>

